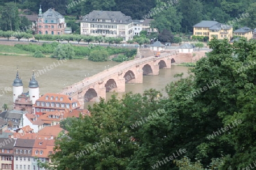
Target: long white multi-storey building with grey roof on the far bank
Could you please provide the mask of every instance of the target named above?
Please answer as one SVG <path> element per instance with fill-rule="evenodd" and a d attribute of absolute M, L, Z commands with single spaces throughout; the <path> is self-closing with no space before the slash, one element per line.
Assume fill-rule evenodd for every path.
<path fill-rule="evenodd" d="M 133 39 L 133 21 L 120 11 L 92 11 L 82 16 L 81 35 Z"/>

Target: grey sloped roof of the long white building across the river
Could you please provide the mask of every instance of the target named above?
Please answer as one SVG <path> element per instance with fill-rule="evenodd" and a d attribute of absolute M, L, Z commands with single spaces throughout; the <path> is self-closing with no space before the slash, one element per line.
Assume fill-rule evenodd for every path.
<path fill-rule="evenodd" d="M 110 19 L 113 23 L 114 20 L 117 20 L 116 23 L 131 23 L 131 16 L 126 16 L 121 11 L 97 11 L 93 10 L 89 14 L 82 16 L 82 21 L 88 22 L 97 22 L 97 19 Z M 122 21 L 122 22 L 121 22 Z M 97 23 L 109 23 L 109 22 L 97 22 Z"/>

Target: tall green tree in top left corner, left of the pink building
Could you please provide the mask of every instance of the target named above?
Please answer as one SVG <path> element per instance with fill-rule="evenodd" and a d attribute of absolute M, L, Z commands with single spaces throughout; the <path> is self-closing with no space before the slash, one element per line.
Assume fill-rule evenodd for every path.
<path fill-rule="evenodd" d="M 5 3 L 1 14 L 1 29 L 3 31 L 18 31 L 19 29 L 18 7 L 15 3 Z"/>

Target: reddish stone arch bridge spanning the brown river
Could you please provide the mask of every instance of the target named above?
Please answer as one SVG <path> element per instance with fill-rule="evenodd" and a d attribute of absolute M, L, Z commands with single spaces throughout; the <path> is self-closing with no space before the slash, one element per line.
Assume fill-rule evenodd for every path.
<path fill-rule="evenodd" d="M 160 57 L 135 58 L 65 87 L 60 94 L 79 100 L 84 108 L 84 102 L 100 101 L 100 97 L 105 99 L 106 92 L 125 92 L 126 83 L 143 83 L 143 75 L 158 75 L 159 69 L 169 69 L 171 63 L 191 61 L 191 53 L 176 51 L 162 53 Z"/>

